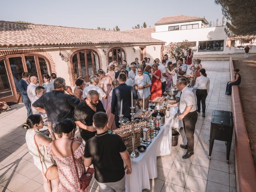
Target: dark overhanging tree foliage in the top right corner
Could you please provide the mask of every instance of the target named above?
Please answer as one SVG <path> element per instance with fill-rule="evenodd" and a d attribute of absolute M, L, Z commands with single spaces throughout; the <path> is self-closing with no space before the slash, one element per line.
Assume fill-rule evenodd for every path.
<path fill-rule="evenodd" d="M 215 0 L 222 7 L 222 14 L 228 20 L 226 33 L 236 35 L 256 34 L 255 0 Z"/>

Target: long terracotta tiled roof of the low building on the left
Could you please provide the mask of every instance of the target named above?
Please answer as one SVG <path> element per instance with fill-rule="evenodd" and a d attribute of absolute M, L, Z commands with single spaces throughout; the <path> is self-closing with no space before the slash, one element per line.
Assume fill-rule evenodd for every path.
<path fill-rule="evenodd" d="M 163 41 L 122 31 L 94 30 L 0 21 L 1 46 L 150 44 Z"/>

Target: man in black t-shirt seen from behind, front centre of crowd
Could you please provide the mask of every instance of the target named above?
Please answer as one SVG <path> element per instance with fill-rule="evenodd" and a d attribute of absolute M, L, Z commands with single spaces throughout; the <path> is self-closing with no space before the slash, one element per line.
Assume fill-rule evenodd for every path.
<path fill-rule="evenodd" d="M 94 177 L 101 192 L 125 192 L 125 172 L 132 173 L 130 156 L 124 142 L 116 134 L 108 134 L 108 116 L 97 112 L 93 116 L 97 133 L 86 142 L 84 165 L 93 164 Z M 126 167 L 124 168 L 124 162 Z"/>

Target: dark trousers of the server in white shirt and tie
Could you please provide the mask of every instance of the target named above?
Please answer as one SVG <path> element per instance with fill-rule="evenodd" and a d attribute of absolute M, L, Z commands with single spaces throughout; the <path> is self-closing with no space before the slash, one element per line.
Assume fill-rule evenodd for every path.
<path fill-rule="evenodd" d="M 196 111 L 194 111 L 194 112 L 189 112 L 182 120 L 186 138 L 188 140 L 189 153 L 194 152 L 194 132 L 196 127 L 197 117 L 198 117 L 198 114 Z"/>

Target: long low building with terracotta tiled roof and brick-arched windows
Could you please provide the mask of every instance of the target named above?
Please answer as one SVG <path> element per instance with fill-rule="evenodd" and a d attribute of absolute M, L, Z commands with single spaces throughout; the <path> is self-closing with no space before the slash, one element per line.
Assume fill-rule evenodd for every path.
<path fill-rule="evenodd" d="M 160 58 L 164 42 L 129 32 L 93 30 L 0 21 L 0 101 L 21 102 L 22 72 L 37 76 L 55 72 L 74 86 L 86 82 L 112 60 L 122 64 L 136 57 Z"/>

